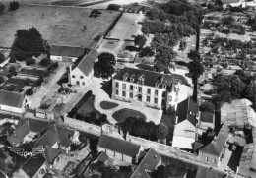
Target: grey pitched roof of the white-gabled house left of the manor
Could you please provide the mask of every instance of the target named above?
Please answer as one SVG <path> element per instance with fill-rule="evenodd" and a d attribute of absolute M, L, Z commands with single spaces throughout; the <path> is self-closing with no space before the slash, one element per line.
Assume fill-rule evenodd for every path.
<path fill-rule="evenodd" d="M 97 56 L 98 52 L 92 49 L 77 65 L 77 68 L 85 75 L 88 75 L 93 69 L 94 62 L 96 61 Z"/>

